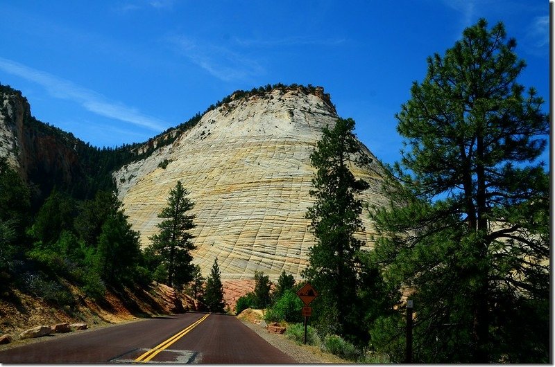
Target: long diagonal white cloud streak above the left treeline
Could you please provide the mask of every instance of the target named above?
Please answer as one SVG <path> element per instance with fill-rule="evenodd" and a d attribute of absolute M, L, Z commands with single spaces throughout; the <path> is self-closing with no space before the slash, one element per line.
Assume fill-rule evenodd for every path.
<path fill-rule="evenodd" d="M 3 57 L 0 57 L 0 69 L 6 71 L 6 73 L 40 84 L 51 96 L 77 102 L 83 108 L 99 116 L 132 123 L 153 131 L 162 131 L 164 127 L 170 125 L 158 118 L 144 115 L 137 109 L 128 107 L 121 102 L 109 101 L 100 93 L 80 87 L 69 80 L 32 69 Z"/>

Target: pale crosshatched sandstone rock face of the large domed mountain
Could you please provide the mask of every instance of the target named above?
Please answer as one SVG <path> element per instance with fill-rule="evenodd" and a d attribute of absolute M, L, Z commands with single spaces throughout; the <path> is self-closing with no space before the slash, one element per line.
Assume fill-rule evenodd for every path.
<path fill-rule="evenodd" d="M 114 173 L 119 199 L 141 233 L 142 246 L 157 232 L 157 214 L 181 181 L 195 202 L 192 255 L 204 275 L 218 258 L 223 280 L 252 279 L 255 270 L 271 280 L 283 270 L 300 279 L 316 243 L 305 219 L 314 202 L 309 156 L 322 128 L 332 127 L 336 118 L 323 93 L 274 89 L 207 112 L 171 145 L 123 166 Z M 362 147 L 373 158 L 367 167 L 351 167 L 370 183 L 362 199 L 384 204 L 383 168 Z M 165 159 L 166 168 L 159 167 Z M 368 241 L 373 226 L 367 214 L 362 215 L 366 231 L 359 236 Z"/>

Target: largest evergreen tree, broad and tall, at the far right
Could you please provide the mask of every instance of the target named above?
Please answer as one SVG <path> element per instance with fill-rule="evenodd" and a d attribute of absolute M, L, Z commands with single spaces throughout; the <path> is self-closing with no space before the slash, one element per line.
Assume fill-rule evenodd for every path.
<path fill-rule="evenodd" d="M 429 57 L 396 116 L 402 186 L 374 215 L 375 255 L 414 292 L 418 361 L 549 360 L 549 178 L 535 163 L 549 122 L 516 81 L 515 46 L 481 19 Z"/>

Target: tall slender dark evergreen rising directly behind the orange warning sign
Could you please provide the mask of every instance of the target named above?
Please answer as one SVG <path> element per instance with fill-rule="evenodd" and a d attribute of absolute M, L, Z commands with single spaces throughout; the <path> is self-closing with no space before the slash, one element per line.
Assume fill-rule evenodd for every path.
<path fill-rule="evenodd" d="M 314 314 L 323 332 L 330 334 L 351 333 L 357 324 L 349 315 L 359 287 L 358 253 L 364 243 L 355 238 L 355 233 L 363 230 L 362 203 L 356 195 L 366 190 L 368 183 L 355 178 L 350 164 L 353 160 L 368 164 L 369 159 L 360 154 L 353 129 L 354 120 L 339 118 L 333 129 L 323 129 L 310 156 L 316 168 L 310 195 L 316 202 L 306 217 L 317 242 L 309 250 L 309 266 L 303 276 L 320 294 L 314 301 Z"/>

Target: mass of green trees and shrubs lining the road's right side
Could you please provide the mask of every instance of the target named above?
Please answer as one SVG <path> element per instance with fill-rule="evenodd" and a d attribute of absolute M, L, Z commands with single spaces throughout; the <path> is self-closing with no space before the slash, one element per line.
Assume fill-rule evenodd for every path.
<path fill-rule="evenodd" d="M 355 122 L 323 130 L 307 212 L 316 245 L 302 274 L 319 293 L 308 343 L 361 363 L 549 362 L 549 177 L 538 161 L 549 118 L 517 82 L 515 46 L 503 24 L 481 19 L 429 57 L 396 116 L 404 148 L 388 167 L 391 204 L 368 208 L 372 251 L 355 236 L 368 183 L 350 165 L 369 163 Z M 410 360 L 400 289 L 415 305 Z M 265 318 L 299 321 L 290 295 L 273 298 Z M 302 323 L 287 337 L 300 343 Z"/>

